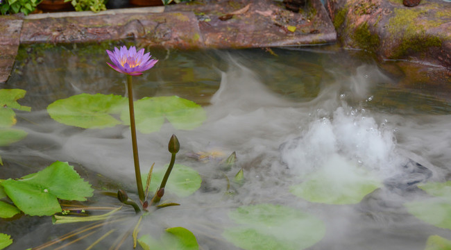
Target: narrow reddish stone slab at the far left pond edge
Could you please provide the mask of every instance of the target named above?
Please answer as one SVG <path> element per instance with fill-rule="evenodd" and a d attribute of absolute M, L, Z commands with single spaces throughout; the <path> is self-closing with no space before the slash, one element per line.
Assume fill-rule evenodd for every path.
<path fill-rule="evenodd" d="M 0 83 L 10 77 L 20 43 L 22 15 L 0 16 Z"/>

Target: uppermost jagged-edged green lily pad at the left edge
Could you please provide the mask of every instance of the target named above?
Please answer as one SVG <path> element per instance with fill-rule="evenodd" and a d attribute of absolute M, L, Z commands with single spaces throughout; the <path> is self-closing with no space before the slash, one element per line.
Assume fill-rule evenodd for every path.
<path fill-rule="evenodd" d="M 8 128 L 16 124 L 16 114 L 12 108 L 30 111 L 31 108 L 17 103 L 18 99 L 25 96 L 25 90 L 3 89 L 0 90 L 0 128 Z"/>

